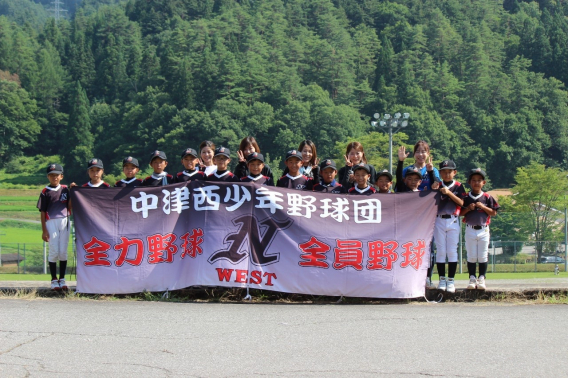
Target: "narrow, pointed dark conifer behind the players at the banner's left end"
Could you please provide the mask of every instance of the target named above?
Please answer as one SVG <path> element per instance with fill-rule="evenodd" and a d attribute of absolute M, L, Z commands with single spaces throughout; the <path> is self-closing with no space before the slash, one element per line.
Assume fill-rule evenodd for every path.
<path fill-rule="evenodd" d="M 65 175 L 72 181 L 85 176 L 85 166 L 93 156 L 93 134 L 89 117 L 89 100 L 79 81 L 71 94 L 71 112 L 63 138 Z"/>

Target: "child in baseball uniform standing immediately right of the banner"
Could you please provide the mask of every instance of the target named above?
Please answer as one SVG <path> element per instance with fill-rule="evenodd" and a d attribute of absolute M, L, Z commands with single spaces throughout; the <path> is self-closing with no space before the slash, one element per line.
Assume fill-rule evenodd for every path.
<path fill-rule="evenodd" d="M 440 282 L 438 290 L 455 293 L 454 277 L 458 266 L 458 243 L 460 237 L 459 216 L 465 197 L 465 189 L 461 183 L 454 180 L 458 173 L 456 163 L 444 160 L 439 168 L 442 182 L 440 183 L 440 202 L 434 224 L 434 243 L 436 243 L 436 266 Z M 446 259 L 448 260 L 448 276 L 446 278 Z"/>

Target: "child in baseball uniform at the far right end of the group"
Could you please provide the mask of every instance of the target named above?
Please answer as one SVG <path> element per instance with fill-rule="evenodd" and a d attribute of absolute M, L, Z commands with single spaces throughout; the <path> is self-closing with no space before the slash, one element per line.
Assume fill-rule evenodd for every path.
<path fill-rule="evenodd" d="M 485 290 L 485 276 L 489 260 L 489 223 L 497 215 L 499 204 L 490 194 L 483 192 L 485 171 L 474 168 L 470 171 L 467 183 L 471 191 L 463 200 L 463 222 L 466 224 L 465 248 L 467 250 L 468 289 Z M 479 276 L 476 268 L 479 264 Z"/>

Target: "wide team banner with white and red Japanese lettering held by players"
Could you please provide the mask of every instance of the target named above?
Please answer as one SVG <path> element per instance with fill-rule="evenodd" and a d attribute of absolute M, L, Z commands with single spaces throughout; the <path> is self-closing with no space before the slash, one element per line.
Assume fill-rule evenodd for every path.
<path fill-rule="evenodd" d="M 337 195 L 191 182 L 73 188 L 77 291 L 194 285 L 424 295 L 436 192 Z"/>

